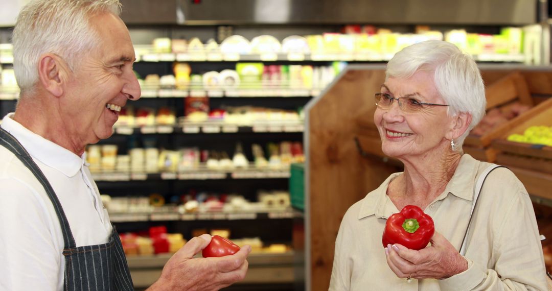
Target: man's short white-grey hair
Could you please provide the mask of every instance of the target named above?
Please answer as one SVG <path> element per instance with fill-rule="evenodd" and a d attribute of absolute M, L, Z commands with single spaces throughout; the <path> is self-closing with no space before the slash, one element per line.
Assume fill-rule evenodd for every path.
<path fill-rule="evenodd" d="M 13 30 L 13 68 L 19 88 L 38 82 L 38 62 L 44 53 L 63 58 L 71 70 L 99 37 L 89 19 L 101 13 L 119 16 L 118 0 L 33 0 L 19 12 Z M 23 95 L 23 94 L 22 94 Z"/>

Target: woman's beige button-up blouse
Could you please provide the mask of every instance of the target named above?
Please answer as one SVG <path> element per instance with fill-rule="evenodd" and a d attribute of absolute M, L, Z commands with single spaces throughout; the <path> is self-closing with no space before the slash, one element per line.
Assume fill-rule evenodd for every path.
<path fill-rule="evenodd" d="M 474 187 L 489 163 L 468 154 L 445 191 L 424 212 L 458 250 L 470 217 Z M 506 168 L 489 174 L 468 234 L 468 270 L 447 279 L 398 278 L 386 260 L 381 236 L 399 212 L 385 194 L 395 173 L 344 215 L 336 239 L 330 290 L 546 290 L 542 246 L 526 189 Z"/>

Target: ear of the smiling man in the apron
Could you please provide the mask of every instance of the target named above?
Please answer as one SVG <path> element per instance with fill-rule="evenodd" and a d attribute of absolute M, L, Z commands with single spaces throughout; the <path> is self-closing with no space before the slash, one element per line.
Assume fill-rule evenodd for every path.
<path fill-rule="evenodd" d="M 63 95 L 63 83 L 65 78 L 65 66 L 61 58 L 50 53 L 40 56 L 38 63 L 38 76 L 44 89 L 52 95 L 60 97 Z"/>

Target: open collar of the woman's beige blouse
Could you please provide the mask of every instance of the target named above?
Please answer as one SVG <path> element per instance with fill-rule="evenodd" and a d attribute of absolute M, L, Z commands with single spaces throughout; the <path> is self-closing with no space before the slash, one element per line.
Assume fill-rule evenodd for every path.
<path fill-rule="evenodd" d="M 450 193 L 464 200 L 472 201 L 478 167 L 479 161 L 472 158 L 469 154 L 462 155 L 457 169 L 454 171 L 454 175 L 445 187 L 443 194 L 437 197 L 437 200 L 444 199 Z M 400 174 L 402 172 L 391 174 L 378 188 L 364 197 L 358 213 L 358 219 L 374 214 L 378 218 L 388 218 L 391 214 L 399 212 L 387 196 L 387 188 L 391 180 Z"/>

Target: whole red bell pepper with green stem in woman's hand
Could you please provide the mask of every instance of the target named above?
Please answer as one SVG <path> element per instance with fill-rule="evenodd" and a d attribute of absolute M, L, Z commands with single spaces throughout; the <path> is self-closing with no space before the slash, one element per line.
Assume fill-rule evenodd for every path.
<path fill-rule="evenodd" d="M 383 246 L 401 244 L 408 249 L 421 250 L 427 246 L 435 227 L 431 216 L 420 207 L 407 205 L 401 212 L 391 215 L 385 223 Z"/>

